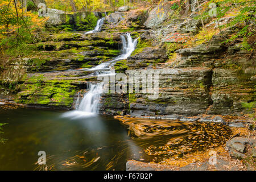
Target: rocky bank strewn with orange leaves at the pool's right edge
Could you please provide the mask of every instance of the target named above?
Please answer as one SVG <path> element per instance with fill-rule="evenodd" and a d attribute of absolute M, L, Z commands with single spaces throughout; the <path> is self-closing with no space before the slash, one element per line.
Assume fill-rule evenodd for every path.
<path fill-rule="evenodd" d="M 220 116 L 218 116 L 220 117 Z M 130 121 L 143 122 L 148 119 L 139 119 L 131 117 L 115 117 L 121 122 L 129 125 Z M 237 127 L 236 125 L 229 125 L 229 122 L 236 123 L 238 121 L 247 121 L 244 127 Z M 151 123 L 155 120 L 151 119 Z M 159 121 L 159 120 L 158 120 Z M 158 121 L 156 125 L 159 125 Z M 161 120 L 160 120 L 161 121 Z M 174 156 L 169 159 L 163 159 L 159 163 L 151 162 L 144 163 L 142 161 L 129 160 L 126 163 L 126 169 L 129 171 L 140 171 L 140 170 L 177 170 L 177 171 L 205 171 L 205 170 L 220 170 L 220 171 L 243 171 L 252 170 L 255 171 L 255 143 L 256 143 L 256 133 L 255 133 L 255 121 L 248 115 L 245 117 L 231 117 L 225 116 L 224 121 L 226 125 L 232 130 L 232 135 L 224 144 L 220 146 L 205 148 L 203 151 L 195 151 L 183 156 Z M 168 122 L 164 120 L 163 122 Z M 181 122 L 181 121 L 176 121 Z M 194 121 L 194 123 L 199 121 Z M 209 122 L 209 121 L 208 121 Z M 250 123 L 248 125 L 248 123 Z M 236 127 L 234 127 L 236 126 Z M 253 128 L 254 127 L 254 128 Z M 142 130 L 142 128 L 141 128 Z M 151 134 L 151 133 L 149 133 Z M 233 141 L 234 140 L 234 141 Z M 251 143 L 241 143 L 241 140 L 253 140 Z M 238 148 L 234 149 L 230 146 L 230 141 L 238 144 L 239 146 L 244 146 L 243 151 L 238 152 Z M 235 152 L 234 152 L 235 151 Z M 210 158 L 216 156 L 216 164 L 209 163 Z"/>

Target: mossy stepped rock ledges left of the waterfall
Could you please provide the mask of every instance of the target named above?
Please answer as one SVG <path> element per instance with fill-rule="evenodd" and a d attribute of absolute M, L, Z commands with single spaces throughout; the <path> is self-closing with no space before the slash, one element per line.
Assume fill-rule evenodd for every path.
<path fill-rule="evenodd" d="M 119 35 L 97 32 L 83 35 L 76 32 L 51 32 L 34 51 L 3 68 L 2 82 L 15 82 L 14 100 L 35 107 L 71 109 L 77 96 L 86 92 L 97 77 L 84 68 L 109 61 L 119 55 Z M 3 95 L 7 86 L 1 85 Z M 5 96 L 2 96 L 5 97 Z"/>

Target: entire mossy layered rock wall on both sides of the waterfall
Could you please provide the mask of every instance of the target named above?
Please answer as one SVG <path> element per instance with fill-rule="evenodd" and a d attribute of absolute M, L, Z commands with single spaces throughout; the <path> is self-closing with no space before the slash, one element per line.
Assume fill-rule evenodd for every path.
<path fill-rule="evenodd" d="M 102 94 L 101 113 L 163 118 L 245 113 L 242 103 L 255 101 L 251 52 L 242 50 L 241 42 L 225 44 L 221 34 L 186 48 L 182 40 L 199 34 L 201 21 L 175 18 L 168 6 L 159 18 L 157 9 L 108 13 L 102 31 L 88 35 L 84 31 L 93 30 L 105 13 L 58 11 L 48 21 L 47 31 L 38 33 L 41 42 L 32 44 L 30 53 L 1 67 L 0 98 L 33 107 L 74 108 L 77 96 L 88 89 L 87 83 L 97 81 L 91 72 L 79 69 L 119 55 L 120 35 L 131 32 L 133 38 L 140 37 L 137 49 L 127 60 L 118 61 L 115 71 L 159 69 L 159 97 Z"/>

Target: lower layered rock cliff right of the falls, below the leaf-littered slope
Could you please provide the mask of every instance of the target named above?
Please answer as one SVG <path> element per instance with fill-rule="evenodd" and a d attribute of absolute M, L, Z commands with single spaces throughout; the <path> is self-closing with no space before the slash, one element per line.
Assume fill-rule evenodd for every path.
<path fill-rule="evenodd" d="M 158 99 L 133 94 L 131 115 L 242 114 L 242 103 L 255 100 L 254 62 L 240 44 L 226 47 L 222 42 L 213 36 L 208 43 L 177 49 L 172 63 L 164 63 L 168 58 L 163 48 L 143 48 L 129 57 L 127 69 L 159 70 Z"/>

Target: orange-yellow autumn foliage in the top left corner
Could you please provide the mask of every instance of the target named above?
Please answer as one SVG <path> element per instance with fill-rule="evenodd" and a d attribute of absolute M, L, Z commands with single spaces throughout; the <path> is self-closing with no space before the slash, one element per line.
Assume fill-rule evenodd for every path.
<path fill-rule="evenodd" d="M 39 18 L 37 12 L 26 11 L 20 1 L 0 0 L 1 49 L 17 49 L 35 41 L 34 34 L 45 21 Z"/>

